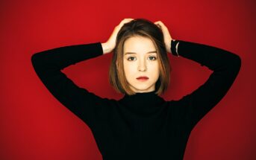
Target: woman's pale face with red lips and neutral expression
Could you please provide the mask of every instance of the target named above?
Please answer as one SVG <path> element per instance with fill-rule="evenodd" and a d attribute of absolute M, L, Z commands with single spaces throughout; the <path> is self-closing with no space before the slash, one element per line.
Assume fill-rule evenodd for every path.
<path fill-rule="evenodd" d="M 134 92 L 154 91 L 159 77 L 159 65 L 152 40 L 143 36 L 128 38 L 123 53 L 125 77 L 130 88 Z"/>

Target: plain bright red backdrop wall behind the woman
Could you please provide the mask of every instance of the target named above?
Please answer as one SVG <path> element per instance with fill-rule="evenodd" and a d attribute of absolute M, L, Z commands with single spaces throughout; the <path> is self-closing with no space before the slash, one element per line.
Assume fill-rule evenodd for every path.
<path fill-rule="evenodd" d="M 1 1 L 0 159 L 102 159 L 87 124 L 48 92 L 31 55 L 50 48 L 105 42 L 125 18 L 162 21 L 174 39 L 238 54 L 242 67 L 227 95 L 191 132 L 184 159 L 256 159 L 255 4 L 252 1 Z M 211 71 L 171 57 L 178 99 Z M 78 86 L 119 99 L 107 81 L 111 54 L 63 70 Z"/>

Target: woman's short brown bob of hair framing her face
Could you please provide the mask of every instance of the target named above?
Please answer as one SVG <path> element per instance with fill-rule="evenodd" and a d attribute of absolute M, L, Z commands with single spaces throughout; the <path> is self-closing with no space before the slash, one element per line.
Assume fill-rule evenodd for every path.
<path fill-rule="evenodd" d="M 169 75 L 172 68 L 169 65 L 163 32 L 157 25 L 154 25 L 154 23 L 147 19 L 134 19 L 131 22 L 125 23 L 117 34 L 116 47 L 113 49 L 113 58 L 109 70 L 110 84 L 119 93 L 127 95 L 134 95 L 136 93 L 128 86 L 123 66 L 125 40 L 132 36 L 143 36 L 151 39 L 154 43 L 159 57 L 157 60 L 160 68 L 160 76 L 155 84 L 155 93 L 161 95 L 169 86 Z"/>

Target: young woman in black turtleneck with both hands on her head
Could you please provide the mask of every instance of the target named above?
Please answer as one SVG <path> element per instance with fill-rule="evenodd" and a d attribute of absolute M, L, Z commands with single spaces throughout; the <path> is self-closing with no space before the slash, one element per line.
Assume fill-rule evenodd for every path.
<path fill-rule="evenodd" d="M 113 51 L 110 84 L 122 99 L 99 97 L 76 86 L 61 69 Z M 196 91 L 163 100 L 171 68 L 167 54 L 213 71 Z M 72 45 L 31 57 L 34 70 L 54 97 L 93 132 L 104 160 L 183 159 L 190 132 L 225 96 L 240 71 L 236 54 L 172 39 L 163 22 L 124 19 L 107 42 Z"/>

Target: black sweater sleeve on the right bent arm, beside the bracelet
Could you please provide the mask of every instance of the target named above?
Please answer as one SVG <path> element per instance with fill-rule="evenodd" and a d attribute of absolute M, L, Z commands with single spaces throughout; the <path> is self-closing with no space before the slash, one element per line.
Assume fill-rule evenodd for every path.
<path fill-rule="evenodd" d="M 241 59 L 237 54 L 195 42 L 179 40 L 178 55 L 201 64 L 213 71 L 207 81 L 194 92 L 185 95 L 178 103 L 178 115 L 190 129 L 222 100 L 240 71 Z M 177 56 L 177 54 L 175 55 Z"/>

